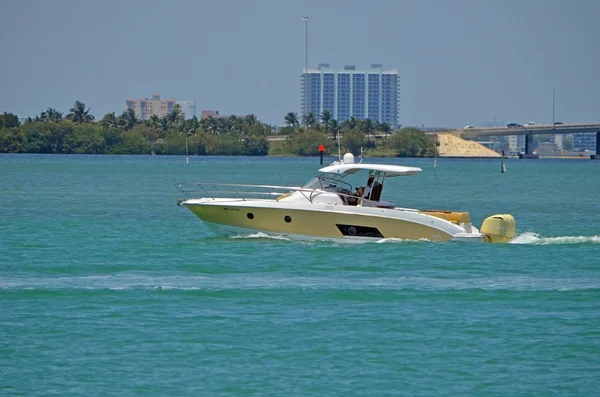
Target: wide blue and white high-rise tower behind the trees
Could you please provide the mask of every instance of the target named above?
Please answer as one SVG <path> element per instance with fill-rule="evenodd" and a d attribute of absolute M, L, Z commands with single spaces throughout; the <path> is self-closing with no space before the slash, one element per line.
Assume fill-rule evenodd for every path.
<path fill-rule="evenodd" d="M 332 69 L 322 63 L 318 69 L 303 69 L 300 81 L 302 114 L 306 106 L 306 113 L 319 116 L 328 110 L 340 123 L 354 117 L 392 127 L 399 124 L 400 76 L 396 69 L 383 70 L 380 64 L 365 70 L 357 70 L 354 65 Z"/>

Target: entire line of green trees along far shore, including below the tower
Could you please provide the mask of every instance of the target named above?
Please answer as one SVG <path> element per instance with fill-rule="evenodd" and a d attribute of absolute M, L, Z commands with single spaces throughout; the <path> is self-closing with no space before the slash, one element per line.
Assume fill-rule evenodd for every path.
<path fill-rule="evenodd" d="M 385 123 L 350 118 L 338 123 L 325 111 L 300 120 L 297 113 L 284 117 L 285 127 L 275 128 L 250 114 L 244 117 L 184 120 L 179 105 L 159 118 L 141 121 L 132 110 L 108 113 L 100 120 L 85 103 L 76 101 L 69 113 L 49 108 L 23 124 L 11 113 L 0 115 L 0 153 L 64 154 L 165 154 L 165 155 L 297 155 L 337 156 L 342 153 L 371 156 L 429 157 L 434 140 L 416 128 L 392 131 Z M 300 122 L 302 121 L 302 123 Z M 286 136 L 271 140 L 272 135 Z"/>

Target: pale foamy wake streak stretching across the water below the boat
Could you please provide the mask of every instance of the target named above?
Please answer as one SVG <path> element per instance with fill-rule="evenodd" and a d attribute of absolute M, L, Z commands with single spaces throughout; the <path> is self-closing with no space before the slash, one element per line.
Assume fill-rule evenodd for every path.
<path fill-rule="evenodd" d="M 115 275 L 67 277 L 8 277 L 0 279 L 0 291 L 238 291 L 246 299 L 248 291 L 581 291 L 600 290 L 600 280 L 589 277 L 542 277 L 537 275 L 495 275 L 453 278 L 431 276 L 355 275 L 294 276 L 282 274 L 155 275 L 124 272 Z"/>

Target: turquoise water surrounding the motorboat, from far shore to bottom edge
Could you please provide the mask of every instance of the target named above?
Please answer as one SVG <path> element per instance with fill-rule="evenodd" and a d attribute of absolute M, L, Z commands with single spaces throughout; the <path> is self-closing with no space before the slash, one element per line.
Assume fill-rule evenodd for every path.
<path fill-rule="evenodd" d="M 0 156 L 0 394 L 596 395 L 600 162 L 373 161 L 423 168 L 397 205 L 511 213 L 515 243 L 217 238 L 175 205 L 316 158 Z"/>

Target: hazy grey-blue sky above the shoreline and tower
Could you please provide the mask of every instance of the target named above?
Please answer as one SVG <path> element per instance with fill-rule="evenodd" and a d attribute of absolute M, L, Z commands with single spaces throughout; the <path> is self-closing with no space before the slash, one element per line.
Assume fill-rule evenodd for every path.
<path fill-rule="evenodd" d="M 598 0 L 0 0 L 0 113 L 195 100 L 281 125 L 305 64 L 397 69 L 400 123 L 600 122 Z M 555 101 L 553 106 L 553 87 Z"/>

